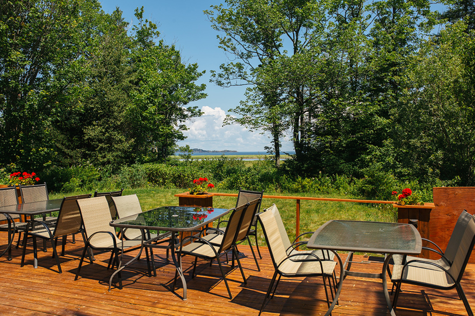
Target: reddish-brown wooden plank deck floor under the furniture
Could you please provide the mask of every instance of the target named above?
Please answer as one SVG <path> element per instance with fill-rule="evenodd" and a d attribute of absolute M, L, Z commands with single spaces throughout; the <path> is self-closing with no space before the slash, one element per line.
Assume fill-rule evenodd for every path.
<path fill-rule="evenodd" d="M 81 237 L 77 236 L 79 240 Z M 5 245 L 6 233 L 0 235 Z M 60 243 L 60 242 L 59 242 Z M 42 242 L 39 242 L 41 245 Z M 155 250 L 157 276 L 149 277 L 146 260 L 140 260 L 124 270 L 123 288 L 107 291 L 112 270 L 106 270 L 109 253 L 96 253 L 95 263 L 75 273 L 81 255 L 82 241 L 71 243 L 69 237 L 66 255 L 61 257 L 63 273 L 57 273 L 56 261 L 47 252 L 38 251 L 38 269 L 33 268 L 32 245 L 28 245 L 25 266 L 20 267 L 21 250 L 13 251 L 13 260 L 0 258 L 0 314 L 1 315 L 257 315 L 272 278 L 274 267 L 266 248 L 261 248 L 258 272 L 248 246 L 241 245 L 242 265 L 247 277 L 244 285 L 238 269 L 226 266 L 228 282 L 233 294 L 229 299 L 218 266 L 198 261 L 198 276 L 190 278 L 191 258 L 185 257 L 183 269 L 188 280 L 188 299 L 181 300 L 183 289 L 170 291 L 174 266 L 160 258 L 164 250 Z M 41 247 L 40 247 L 41 248 Z M 4 249 L 4 248 L 0 248 Z M 60 251 L 61 246 L 57 249 Z M 136 252 L 135 252 L 136 253 Z M 131 254 L 124 255 L 124 260 Z M 344 258 L 345 255 L 342 255 Z M 355 256 L 356 260 L 367 257 Z M 381 263 L 353 264 L 352 270 L 377 273 Z M 117 279 L 114 284 L 117 285 Z M 469 303 L 475 306 L 475 265 L 469 264 L 462 280 Z M 397 315 L 467 315 L 456 290 L 439 291 L 429 288 L 403 286 Z M 282 279 L 276 297 L 269 300 L 262 315 L 324 315 L 327 310 L 323 283 L 320 278 Z M 387 315 L 387 307 L 378 279 L 348 277 L 343 283 L 339 306 L 335 315 Z"/>

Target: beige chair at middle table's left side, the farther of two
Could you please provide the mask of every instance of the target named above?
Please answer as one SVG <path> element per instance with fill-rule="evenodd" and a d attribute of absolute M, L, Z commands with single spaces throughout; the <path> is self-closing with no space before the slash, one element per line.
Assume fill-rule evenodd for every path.
<path fill-rule="evenodd" d="M 127 216 L 142 213 L 142 207 L 137 195 L 122 195 L 112 196 L 112 202 L 115 210 L 117 211 L 118 218 L 124 218 Z M 146 240 L 154 239 L 155 248 L 163 248 L 167 250 L 167 259 L 170 251 L 170 236 L 171 232 L 164 233 L 151 233 L 149 230 L 145 232 Z M 142 231 L 140 229 L 125 228 L 123 229 L 122 237 L 126 240 L 142 240 Z M 158 237 L 158 238 L 157 238 Z M 167 245 L 161 245 L 161 243 L 168 243 Z M 178 242 L 176 247 L 178 248 Z"/>

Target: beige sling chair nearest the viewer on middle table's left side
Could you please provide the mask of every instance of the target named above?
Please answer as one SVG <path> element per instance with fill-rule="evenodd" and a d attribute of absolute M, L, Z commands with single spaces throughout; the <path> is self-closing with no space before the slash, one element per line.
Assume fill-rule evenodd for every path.
<path fill-rule="evenodd" d="M 107 265 L 107 269 L 111 267 L 119 267 L 119 254 L 121 252 L 136 250 L 140 244 L 136 240 L 121 240 L 115 234 L 114 227 L 109 225 L 111 222 L 111 213 L 109 209 L 109 203 L 105 196 L 91 197 L 89 199 L 77 200 L 81 218 L 83 220 L 85 230 L 84 250 L 77 267 L 75 280 L 78 279 L 81 271 L 81 266 L 84 261 L 84 257 L 88 248 L 99 251 L 111 251 L 111 257 Z M 121 249 L 123 245 L 124 250 Z M 150 267 L 150 259 L 148 255 L 148 247 L 144 245 L 145 253 L 147 256 L 147 267 L 150 275 L 152 275 L 152 269 L 155 273 L 155 266 L 153 263 L 152 254 L 152 269 Z M 92 260 L 91 260 L 92 263 Z M 121 272 L 117 273 L 119 278 L 119 288 L 122 288 Z"/>

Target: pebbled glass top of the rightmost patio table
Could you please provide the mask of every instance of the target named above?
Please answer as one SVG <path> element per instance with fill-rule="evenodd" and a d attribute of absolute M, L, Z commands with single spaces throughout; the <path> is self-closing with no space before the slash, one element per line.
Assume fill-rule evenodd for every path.
<path fill-rule="evenodd" d="M 332 220 L 314 232 L 307 247 L 418 254 L 422 241 L 416 228 L 409 224 Z"/>

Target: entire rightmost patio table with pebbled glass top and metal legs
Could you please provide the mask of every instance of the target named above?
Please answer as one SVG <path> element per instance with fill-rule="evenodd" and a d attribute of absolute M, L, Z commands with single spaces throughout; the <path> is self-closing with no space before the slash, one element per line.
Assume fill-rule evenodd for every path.
<path fill-rule="evenodd" d="M 342 280 L 346 276 L 356 276 L 382 279 L 386 304 L 390 314 L 395 316 L 386 280 L 386 270 L 389 261 L 393 254 L 419 254 L 422 251 L 422 239 L 417 229 L 411 224 L 331 220 L 324 223 L 314 232 L 307 243 L 307 247 L 311 249 L 350 251 L 343 265 L 346 268 L 344 269 L 343 277 L 340 278 L 338 283 L 335 299 L 325 315 L 329 315 L 336 305 L 342 289 Z M 382 272 L 373 274 L 350 271 L 351 260 L 355 251 L 386 254 Z M 339 256 L 338 259 L 341 262 Z"/>

